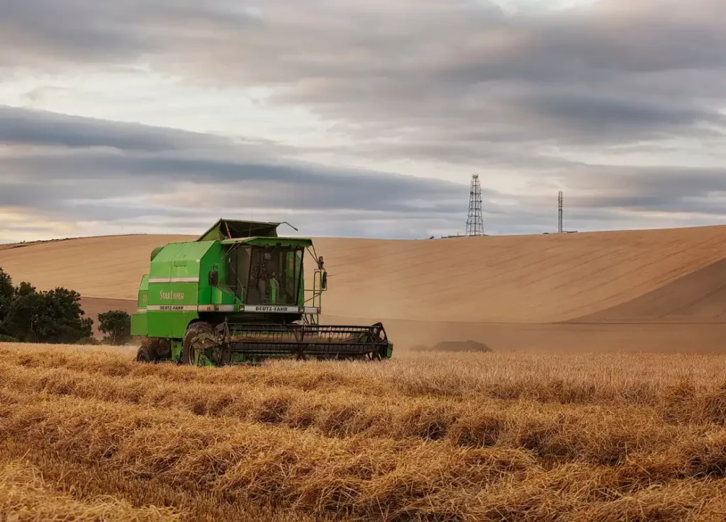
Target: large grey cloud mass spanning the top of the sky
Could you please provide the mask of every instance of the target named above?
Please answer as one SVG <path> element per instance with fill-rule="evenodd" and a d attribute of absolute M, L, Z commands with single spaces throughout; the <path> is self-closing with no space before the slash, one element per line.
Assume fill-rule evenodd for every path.
<path fill-rule="evenodd" d="M 0 6 L 25 35 L 0 30 L 0 44 L 51 62 L 143 57 L 194 83 L 274 86 L 273 103 L 355 122 L 356 138 L 407 129 L 404 145 L 420 147 L 466 128 L 481 144 L 608 146 L 725 125 L 726 95 L 703 85 L 726 83 L 726 8 L 666 4 L 506 16 L 487 1 L 31 0 Z"/>

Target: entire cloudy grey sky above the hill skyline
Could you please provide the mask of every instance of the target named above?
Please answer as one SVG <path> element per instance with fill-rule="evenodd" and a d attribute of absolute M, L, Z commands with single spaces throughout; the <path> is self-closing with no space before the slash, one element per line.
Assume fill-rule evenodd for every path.
<path fill-rule="evenodd" d="M 0 242 L 726 223 L 726 0 L 0 1 Z"/>

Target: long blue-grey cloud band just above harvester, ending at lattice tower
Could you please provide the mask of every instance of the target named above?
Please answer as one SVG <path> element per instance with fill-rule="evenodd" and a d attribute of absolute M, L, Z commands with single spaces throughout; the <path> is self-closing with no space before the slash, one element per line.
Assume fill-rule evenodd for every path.
<path fill-rule="evenodd" d="M 250 163 L 185 157 L 134 157 L 131 154 L 23 154 L 4 160 L 20 179 L 73 181 L 80 191 L 91 183 L 124 181 L 134 192 L 169 191 L 179 183 L 222 186 L 219 199 L 268 207 L 304 209 L 414 210 L 416 200 L 436 212 L 452 199 L 465 199 L 466 186 L 446 181 L 314 165 Z M 8 197 L 12 197 L 9 195 Z M 0 197 L 1 200 L 4 199 Z M 213 202 L 218 204 L 219 200 Z"/>

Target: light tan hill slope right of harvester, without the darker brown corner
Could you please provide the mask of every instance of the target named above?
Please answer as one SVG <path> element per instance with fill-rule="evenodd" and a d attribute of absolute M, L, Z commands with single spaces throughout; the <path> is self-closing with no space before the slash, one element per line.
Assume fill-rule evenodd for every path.
<path fill-rule="evenodd" d="M 622 305 L 722 260 L 726 227 L 318 244 L 330 270 L 325 304 L 338 315 L 550 323 Z"/>

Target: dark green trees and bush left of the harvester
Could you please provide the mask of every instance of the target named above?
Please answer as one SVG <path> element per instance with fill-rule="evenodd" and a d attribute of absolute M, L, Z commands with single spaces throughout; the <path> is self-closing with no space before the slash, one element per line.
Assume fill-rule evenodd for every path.
<path fill-rule="evenodd" d="M 97 344 L 94 320 L 84 317 L 81 294 L 57 287 L 39 291 L 23 281 L 15 286 L 0 268 L 0 341 L 30 343 Z M 131 339 L 131 316 L 123 310 L 97 315 L 106 344 Z"/>

